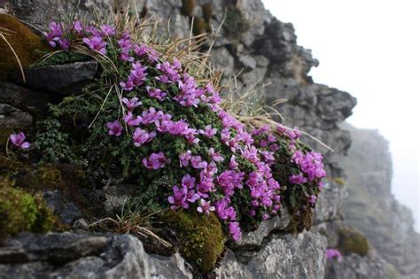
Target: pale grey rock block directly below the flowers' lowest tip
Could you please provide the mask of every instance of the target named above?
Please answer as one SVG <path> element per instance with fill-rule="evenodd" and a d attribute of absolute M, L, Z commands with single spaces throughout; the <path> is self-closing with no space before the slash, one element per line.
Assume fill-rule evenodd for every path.
<path fill-rule="evenodd" d="M 323 278 L 325 249 L 325 237 L 315 232 L 273 236 L 247 262 L 228 250 L 215 273 L 218 278 Z"/>

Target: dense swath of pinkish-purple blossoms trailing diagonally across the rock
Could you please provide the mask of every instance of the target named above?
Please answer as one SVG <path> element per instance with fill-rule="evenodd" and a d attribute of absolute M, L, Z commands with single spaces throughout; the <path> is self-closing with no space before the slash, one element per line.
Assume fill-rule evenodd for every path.
<path fill-rule="evenodd" d="M 258 223 L 280 211 L 280 182 L 286 186 L 318 181 L 325 176 L 322 156 L 302 151 L 296 143 L 299 130 L 279 125 L 276 130 L 263 126 L 251 132 L 222 108 L 221 97 L 211 81 L 196 80 L 185 71 L 180 59 L 167 58 L 152 47 L 137 43 L 127 32 L 75 20 L 66 32 L 51 23 L 47 39 L 52 47 L 63 50 L 82 43 L 96 54 L 117 53 L 109 58 L 116 59 L 114 64 L 123 69 L 115 81 L 122 92 L 115 111 L 121 114 L 107 118 L 102 128 L 113 136 L 113 143 L 128 139 L 125 143 L 131 142 L 130 148 L 134 146 L 143 154 L 142 164 L 137 165 L 143 167 L 142 172 L 151 174 L 148 177 L 176 167 L 174 173 L 180 177 L 170 184 L 170 189 L 161 189 L 166 206 L 172 210 L 214 213 L 237 241 L 241 221 L 251 219 Z M 214 115 L 214 119 L 197 120 L 196 112 Z M 278 135 L 290 142 L 287 148 L 292 155 L 288 163 L 299 170 L 288 174 L 288 181 L 281 181 L 283 174 L 273 172 L 278 157 L 284 155 Z M 160 147 L 162 138 L 168 137 L 182 142 L 179 150 Z M 153 149 L 149 149 L 151 146 Z M 147 152 L 142 153 L 144 150 Z M 308 203 L 315 201 L 315 195 L 307 195 Z"/>

